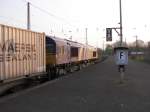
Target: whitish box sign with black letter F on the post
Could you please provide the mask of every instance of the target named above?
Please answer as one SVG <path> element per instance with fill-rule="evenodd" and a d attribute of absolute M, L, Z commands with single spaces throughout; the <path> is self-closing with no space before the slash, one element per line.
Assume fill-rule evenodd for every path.
<path fill-rule="evenodd" d="M 117 50 L 116 51 L 116 64 L 117 65 L 127 65 L 128 64 L 128 51 L 127 50 Z"/>

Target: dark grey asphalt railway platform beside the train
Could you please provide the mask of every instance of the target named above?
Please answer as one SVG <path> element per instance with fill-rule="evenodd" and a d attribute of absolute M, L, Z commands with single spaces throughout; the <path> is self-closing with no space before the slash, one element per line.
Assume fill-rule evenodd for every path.
<path fill-rule="evenodd" d="M 1 112 L 149 112 L 150 65 L 129 60 L 124 83 L 112 57 L 0 99 Z"/>

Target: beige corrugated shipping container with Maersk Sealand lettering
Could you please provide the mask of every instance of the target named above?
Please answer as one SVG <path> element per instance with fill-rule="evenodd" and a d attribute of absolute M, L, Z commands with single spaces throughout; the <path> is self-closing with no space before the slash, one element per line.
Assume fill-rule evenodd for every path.
<path fill-rule="evenodd" d="M 44 73 L 45 34 L 0 25 L 0 81 Z"/>

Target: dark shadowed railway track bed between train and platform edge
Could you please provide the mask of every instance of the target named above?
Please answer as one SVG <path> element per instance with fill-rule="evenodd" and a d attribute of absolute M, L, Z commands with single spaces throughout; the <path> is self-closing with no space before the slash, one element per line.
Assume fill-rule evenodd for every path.
<path fill-rule="evenodd" d="M 103 61 L 105 59 L 106 58 L 102 59 L 101 61 Z M 95 63 L 91 63 L 91 64 L 89 64 L 87 66 L 82 67 L 82 68 L 88 67 L 88 66 L 90 66 L 92 64 L 97 64 L 99 62 L 100 61 L 97 61 Z M 69 73 L 66 73 L 66 72 L 64 73 L 64 71 L 61 70 L 59 72 L 59 75 L 57 75 L 57 77 L 55 77 L 55 78 L 53 78 L 51 80 L 58 79 L 60 77 L 69 75 L 69 74 L 71 74 L 73 72 L 76 72 L 76 71 L 79 71 L 79 70 L 81 70 L 81 68 L 77 69 L 77 67 L 72 69 L 72 71 L 69 72 Z M 51 81 L 51 80 L 49 80 L 49 78 L 46 75 L 44 75 L 42 77 L 39 76 L 39 77 L 32 77 L 32 78 L 21 79 L 18 82 L 15 82 L 14 84 L 13 83 L 12 84 L 6 84 L 6 85 L 3 84 L 2 85 L 3 87 L 0 86 L 1 87 L 1 89 L 0 89 L 0 98 L 7 97 L 8 95 L 11 95 L 11 94 L 14 94 L 14 93 L 17 93 L 17 92 L 20 92 L 20 91 L 23 91 L 23 90 L 26 90 L 26 89 L 38 86 L 38 85 L 41 85 L 41 84 L 43 84 L 43 83 L 45 83 L 47 81 Z"/>

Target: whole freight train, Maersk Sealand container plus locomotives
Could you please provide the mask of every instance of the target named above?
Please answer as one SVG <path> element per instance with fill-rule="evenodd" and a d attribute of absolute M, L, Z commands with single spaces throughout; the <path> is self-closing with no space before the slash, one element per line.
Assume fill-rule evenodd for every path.
<path fill-rule="evenodd" d="M 0 25 L 1 83 L 42 74 L 52 79 L 61 73 L 81 69 L 99 58 L 100 50 L 95 47 Z"/>

